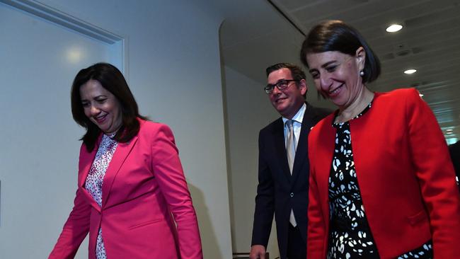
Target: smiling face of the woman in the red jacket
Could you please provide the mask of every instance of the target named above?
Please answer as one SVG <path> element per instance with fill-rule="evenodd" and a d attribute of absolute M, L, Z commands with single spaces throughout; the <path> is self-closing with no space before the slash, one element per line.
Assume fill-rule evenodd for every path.
<path fill-rule="evenodd" d="M 347 108 L 362 91 L 360 71 L 364 69 L 364 59 L 362 47 L 355 56 L 338 51 L 306 54 L 316 89 L 339 108 Z"/>

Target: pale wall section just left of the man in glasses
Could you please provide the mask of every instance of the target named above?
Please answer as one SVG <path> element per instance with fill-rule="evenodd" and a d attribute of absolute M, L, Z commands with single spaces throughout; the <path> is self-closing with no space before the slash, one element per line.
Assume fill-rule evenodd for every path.
<path fill-rule="evenodd" d="M 251 249 L 258 184 L 258 133 L 280 115 L 268 100 L 263 84 L 230 67 L 225 66 L 224 69 L 232 246 L 235 252 L 246 253 Z M 280 255 L 275 224 L 268 252 L 270 258 Z"/>

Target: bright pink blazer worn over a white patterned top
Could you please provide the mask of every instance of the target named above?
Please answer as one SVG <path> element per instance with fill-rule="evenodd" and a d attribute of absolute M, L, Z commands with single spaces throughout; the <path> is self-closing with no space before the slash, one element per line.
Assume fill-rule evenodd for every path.
<path fill-rule="evenodd" d="M 173 133 L 166 125 L 139 121 L 139 134 L 118 143 L 110 161 L 102 207 L 84 188 L 98 145 L 91 153 L 81 146 L 74 208 L 49 258 L 74 258 L 88 231 L 89 258 L 95 258 L 99 227 L 110 259 L 203 257 Z"/>

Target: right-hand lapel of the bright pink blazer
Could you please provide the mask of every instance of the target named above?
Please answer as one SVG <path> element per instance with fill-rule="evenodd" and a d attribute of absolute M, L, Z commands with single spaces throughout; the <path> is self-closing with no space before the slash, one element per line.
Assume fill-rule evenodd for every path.
<path fill-rule="evenodd" d="M 137 142 L 137 136 L 133 137 L 130 142 L 118 143 L 117 149 L 115 149 L 115 154 L 110 161 L 107 171 L 104 175 L 103 185 L 102 185 L 102 207 L 107 203 L 108 197 L 110 196 L 110 189 L 113 185 L 113 180 L 117 176 L 120 167 L 125 162 L 127 156 L 130 154 L 132 147 Z"/>

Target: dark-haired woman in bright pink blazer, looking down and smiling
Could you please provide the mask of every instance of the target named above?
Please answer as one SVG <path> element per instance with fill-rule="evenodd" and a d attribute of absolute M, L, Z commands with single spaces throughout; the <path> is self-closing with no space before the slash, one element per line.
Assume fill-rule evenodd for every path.
<path fill-rule="evenodd" d="M 74 208 L 49 258 L 202 258 L 200 232 L 173 133 L 139 115 L 121 72 L 98 63 L 71 89 L 86 128 Z"/>

